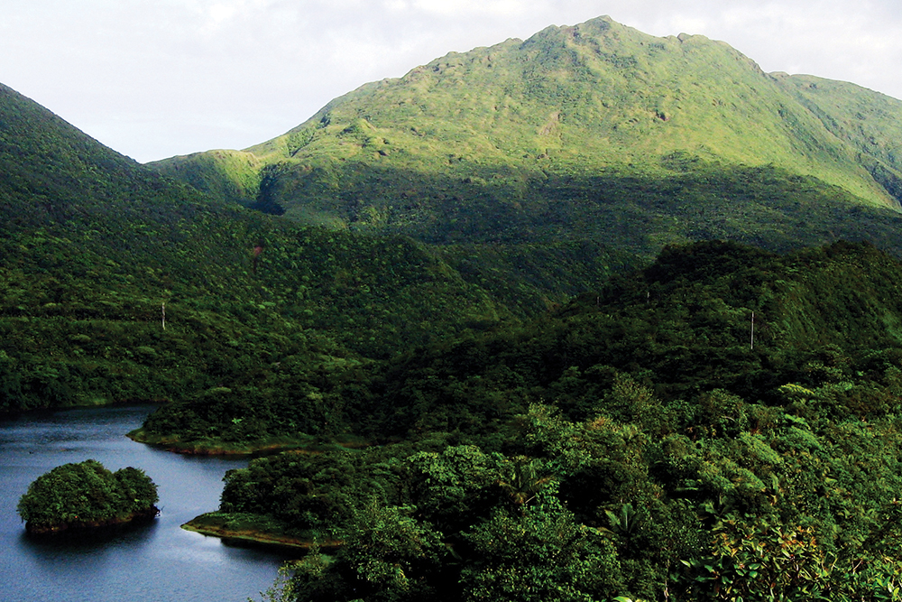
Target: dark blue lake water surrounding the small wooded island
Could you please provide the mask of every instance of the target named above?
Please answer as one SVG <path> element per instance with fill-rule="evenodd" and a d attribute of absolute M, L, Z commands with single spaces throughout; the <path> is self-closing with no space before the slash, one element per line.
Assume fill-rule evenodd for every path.
<path fill-rule="evenodd" d="M 272 585 L 285 556 L 179 528 L 216 509 L 226 470 L 246 460 L 179 456 L 126 439 L 151 410 L 69 410 L 0 421 L 2 599 L 245 602 Z M 51 468 L 87 458 L 110 470 L 142 468 L 159 488 L 160 516 L 115 535 L 27 535 L 15 505 L 29 484 Z"/>

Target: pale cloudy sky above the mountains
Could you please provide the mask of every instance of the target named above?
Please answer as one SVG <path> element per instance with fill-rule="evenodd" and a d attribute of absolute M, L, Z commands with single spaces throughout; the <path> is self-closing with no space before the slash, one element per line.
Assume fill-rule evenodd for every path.
<path fill-rule="evenodd" d="M 902 98 L 899 0 L 2 0 L 0 83 L 149 162 L 259 144 L 366 82 L 602 15 Z"/>

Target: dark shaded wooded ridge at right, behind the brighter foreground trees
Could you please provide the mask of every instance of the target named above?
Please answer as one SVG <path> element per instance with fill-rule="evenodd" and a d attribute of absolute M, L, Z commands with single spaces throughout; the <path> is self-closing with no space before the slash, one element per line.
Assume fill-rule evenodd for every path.
<path fill-rule="evenodd" d="M 333 383 L 322 398 L 328 420 L 313 428 L 373 441 L 434 432 L 491 439 L 530 403 L 590 418 L 624 375 L 681 412 L 715 390 L 769 405 L 784 403 L 787 383 L 839 382 L 833 400 L 849 407 L 838 412 L 891 412 L 902 357 L 899 267 L 866 244 L 785 256 L 723 242 L 667 247 L 655 264 L 560 310 L 414 347 Z M 295 427 L 272 420 L 277 413 L 220 395 L 171 404 L 147 426 L 182 441 L 239 442 L 234 420 L 269 420 L 266 429 L 287 435 Z"/>

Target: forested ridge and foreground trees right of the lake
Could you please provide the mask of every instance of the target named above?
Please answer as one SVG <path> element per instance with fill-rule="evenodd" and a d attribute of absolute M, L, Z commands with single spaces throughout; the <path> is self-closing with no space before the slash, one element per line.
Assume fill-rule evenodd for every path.
<path fill-rule="evenodd" d="M 193 524 L 312 545 L 285 601 L 897 600 L 900 267 L 847 243 L 667 247 L 339 384 L 382 445 L 255 459 Z M 263 412 L 222 408 L 145 426 Z"/>

